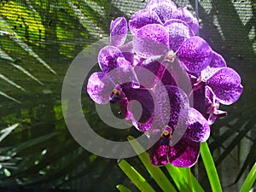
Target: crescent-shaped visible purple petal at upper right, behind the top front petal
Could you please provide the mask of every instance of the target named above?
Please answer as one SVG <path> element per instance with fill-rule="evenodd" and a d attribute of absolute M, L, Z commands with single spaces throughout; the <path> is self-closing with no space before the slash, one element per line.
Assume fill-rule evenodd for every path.
<path fill-rule="evenodd" d="M 172 15 L 173 19 L 179 19 L 185 21 L 193 34 L 195 35 L 199 29 L 198 20 L 189 12 L 188 9 L 178 8 Z"/>

